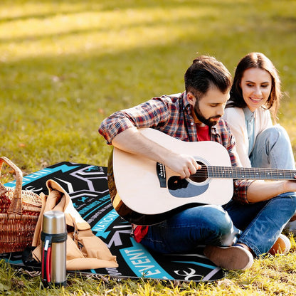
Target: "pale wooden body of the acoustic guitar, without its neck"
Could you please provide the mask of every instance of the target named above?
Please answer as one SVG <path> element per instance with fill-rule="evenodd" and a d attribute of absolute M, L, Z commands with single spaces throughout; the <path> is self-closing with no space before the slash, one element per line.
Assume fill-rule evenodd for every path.
<path fill-rule="evenodd" d="M 156 129 L 139 130 L 174 152 L 192 155 L 202 166 L 231 166 L 227 150 L 216 142 L 183 142 Z M 122 218 L 137 225 L 159 223 L 192 206 L 223 205 L 233 195 L 233 179 L 181 179 L 162 164 L 117 148 L 108 169 L 113 206 Z"/>

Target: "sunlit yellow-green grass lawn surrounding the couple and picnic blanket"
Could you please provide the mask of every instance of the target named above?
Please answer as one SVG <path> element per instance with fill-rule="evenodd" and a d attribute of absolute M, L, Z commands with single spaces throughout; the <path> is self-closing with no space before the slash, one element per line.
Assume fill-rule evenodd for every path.
<path fill-rule="evenodd" d="M 183 91 L 197 52 L 233 73 L 250 51 L 265 53 L 280 72 L 287 93 L 280 123 L 296 152 L 295 11 L 295 0 L 2 0 L 0 155 L 24 174 L 61 161 L 107 165 L 110 147 L 97 133 L 104 117 Z M 214 283 L 71 276 L 56 292 L 2 264 L 0 294 L 295 295 L 295 257 L 293 248 Z"/>

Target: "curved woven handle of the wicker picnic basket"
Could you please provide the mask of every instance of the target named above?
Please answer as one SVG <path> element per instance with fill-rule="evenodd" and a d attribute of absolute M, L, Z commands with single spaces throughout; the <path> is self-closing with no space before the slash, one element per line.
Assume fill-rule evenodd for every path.
<path fill-rule="evenodd" d="M 18 169 L 18 166 L 11 162 L 11 160 L 7 157 L 0 157 L 0 173 L 4 162 L 11 166 L 11 168 L 16 172 L 16 188 L 14 190 L 14 196 L 12 197 L 7 213 L 21 215 L 23 213 L 21 206 L 21 186 L 23 184 L 23 172 L 21 169 Z"/>

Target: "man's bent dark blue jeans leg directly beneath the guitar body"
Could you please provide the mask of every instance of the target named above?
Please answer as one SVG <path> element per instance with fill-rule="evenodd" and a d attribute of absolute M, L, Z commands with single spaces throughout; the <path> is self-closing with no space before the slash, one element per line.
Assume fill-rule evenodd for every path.
<path fill-rule="evenodd" d="M 221 206 L 196 206 L 149 226 L 141 243 L 158 253 L 189 253 L 198 245 L 233 245 L 238 233 Z"/>

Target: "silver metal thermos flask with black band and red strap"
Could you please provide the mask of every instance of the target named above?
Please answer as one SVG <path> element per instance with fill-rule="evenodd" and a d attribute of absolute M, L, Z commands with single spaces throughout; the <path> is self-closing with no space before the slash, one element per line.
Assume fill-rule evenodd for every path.
<path fill-rule="evenodd" d="M 65 286 L 67 283 L 66 240 L 65 214 L 61 211 L 43 213 L 41 276 L 43 285 L 46 287 L 51 285 Z"/>

